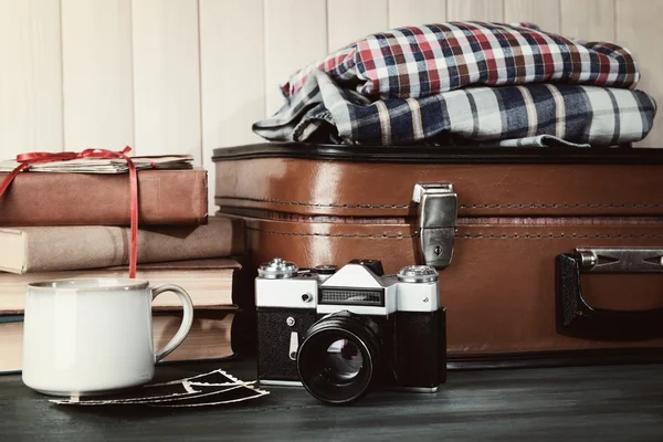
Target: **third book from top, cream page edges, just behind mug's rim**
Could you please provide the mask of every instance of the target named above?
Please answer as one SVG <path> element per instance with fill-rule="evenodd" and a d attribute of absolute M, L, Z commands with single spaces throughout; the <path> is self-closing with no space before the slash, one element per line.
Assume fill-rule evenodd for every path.
<path fill-rule="evenodd" d="M 196 308 L 228 308 L 233 304 L 234 271 L 240 264 L 230 259 L 178 261 L 160 264 L 140 264 L 136 277 L 147 280 L 150 286 L 177 284 L 187 291 Z M 38 281 L 69 280 L 73 277 L 127 277 L 127 267 L 117 266 L 87 271 L 0 273 L 0 315 L 22 314 L 27 285 Z M 172 293 L 158 296 L 152 306 L 159 309 L 181 308 Z"/>

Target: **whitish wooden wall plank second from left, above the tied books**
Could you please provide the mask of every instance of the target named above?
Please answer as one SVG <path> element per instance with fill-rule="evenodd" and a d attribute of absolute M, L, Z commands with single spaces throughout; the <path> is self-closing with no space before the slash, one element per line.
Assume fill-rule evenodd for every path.
<path fill-rule="evenodd" d="M 62 0 L 62 67 L 66 150 L 133 145 L 130 0 Z"/>

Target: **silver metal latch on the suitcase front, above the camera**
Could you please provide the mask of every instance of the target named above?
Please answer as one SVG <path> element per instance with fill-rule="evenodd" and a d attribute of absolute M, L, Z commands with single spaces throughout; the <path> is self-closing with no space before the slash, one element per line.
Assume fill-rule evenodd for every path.
<path fill-rule="evenodd" d="M 425 265 L 446 267 L 453 256 L 457 196 L 448 182 L 418 183 L 412 200 L 419 204 L 421 254 Z"/>

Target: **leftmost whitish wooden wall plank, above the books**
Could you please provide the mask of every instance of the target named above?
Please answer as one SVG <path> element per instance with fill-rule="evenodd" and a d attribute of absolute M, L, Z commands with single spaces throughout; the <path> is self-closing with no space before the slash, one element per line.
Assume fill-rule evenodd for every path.
<path fill-rule="evenodd" d="M 60 0 L 0 0 L 0 159 L 60 151 Z"/>

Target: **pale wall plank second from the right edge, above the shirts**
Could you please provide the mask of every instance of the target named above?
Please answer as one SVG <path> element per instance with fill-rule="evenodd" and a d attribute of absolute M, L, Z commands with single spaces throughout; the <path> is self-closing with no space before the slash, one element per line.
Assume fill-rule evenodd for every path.
<path fill-rule="evenodd" d="M 560 1 L 561 32 L 565 36 L 614 41 L 614 0 Z M 631 1 L 634 7 L 636 3 L 640 0 Z"/>

